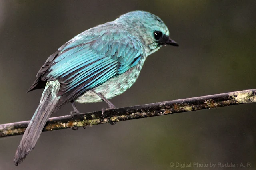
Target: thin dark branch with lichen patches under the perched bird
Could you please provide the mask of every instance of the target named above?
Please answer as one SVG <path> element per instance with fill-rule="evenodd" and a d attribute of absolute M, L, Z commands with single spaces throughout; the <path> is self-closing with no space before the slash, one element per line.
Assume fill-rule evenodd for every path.
<path fill-rule="evenodd" d="M 256 89 L 106 110 L 104 115 L 110 121 L 119 122 L 253 102 L 256 102 Z M 70 115 L 53 117 L 47 121 L 43 131 L 109 123 L 106 117 L 101 111 L 74 115 L 74 120 Z M 0 125 L 0 138 L 23 134 L 28 123 L 22 121 Z"/>

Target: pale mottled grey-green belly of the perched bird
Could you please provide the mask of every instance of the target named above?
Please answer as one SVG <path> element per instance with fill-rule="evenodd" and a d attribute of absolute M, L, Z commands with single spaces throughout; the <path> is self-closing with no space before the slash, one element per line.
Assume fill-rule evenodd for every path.
<path fill-rule="evenodd" d="M 107 99 L 111 99 L 112 97 L 120 95 L 135 83 L 140 73 L 141 67 L 142 65 L 132 67 L 125 73 L 118 75 L 117 77 L 113 77 L 102 85 L 95 87 L 93 91 L 96 93 L 101 93 Z M 86 91 L 86 93 L 78 97 L 75 101 L 78 103 L 94 103 L 102 101 L 102 99 L 93 91 Z"/>

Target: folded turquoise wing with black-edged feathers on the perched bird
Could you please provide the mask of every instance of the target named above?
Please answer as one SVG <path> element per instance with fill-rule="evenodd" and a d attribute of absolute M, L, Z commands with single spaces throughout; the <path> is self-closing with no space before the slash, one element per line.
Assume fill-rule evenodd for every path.
<path fill-rule="evenodd" d="M 80 34 L 52 57 L 52 61 L 44 67 L 47 69 L 41 71 L 41 81 L 59 81 L 58 95 L 62 96 L 62 106 L 126 72 L 137 65 L 143 56 L 140 42 L 128 33 L 105 30 L 98 35 Z"/>

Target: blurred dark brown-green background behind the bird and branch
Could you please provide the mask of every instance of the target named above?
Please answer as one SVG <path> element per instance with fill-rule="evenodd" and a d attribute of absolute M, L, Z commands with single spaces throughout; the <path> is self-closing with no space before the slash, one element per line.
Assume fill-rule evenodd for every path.
<path fill-rule="evenodd" d="M 117 107 L 256 88 L 255 0 L 0 0 L 0 124 L 31 119 L 42 89 L 26 90 L 58 47 L 132 10 L 162 18 L 180 47 L 148 57 L 137 82 L 111 99 Z M 78 104 L 83 112 L 102 107 Z M 252 170 L 255 112 L 255 104 L 245 104 L 44 132 L 18 167 L 12 159 L 22 136 L 1 138 L 0 170 L 181 169 L 171 162 L 242 162 L 245 167 L 236 169 Z"/>

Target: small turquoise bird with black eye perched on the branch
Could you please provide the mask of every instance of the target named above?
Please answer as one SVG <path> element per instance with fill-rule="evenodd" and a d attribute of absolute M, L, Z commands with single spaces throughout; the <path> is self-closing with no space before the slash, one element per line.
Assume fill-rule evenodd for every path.
<path fill-rule="evenodd" d="M 52 113 L 66 103 L 109 101 L 129 89 L 146 58 L 162 46 L 179 46 L 164 22 L 146 11 L 132 11 L 116 20 L 90 28 L 50 55 L 28 89 L 44 89 L 40 103 L 14 156 L 17 166 L 34 149 Z M 104 114 L 102 109 L 102 113 Z"/>

